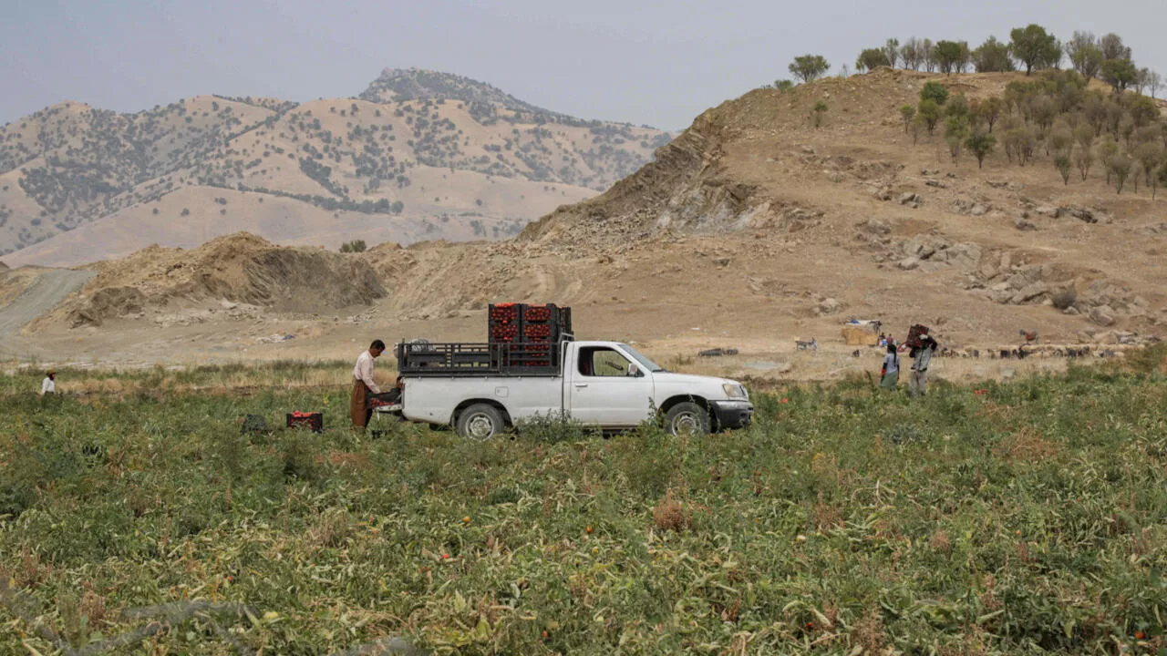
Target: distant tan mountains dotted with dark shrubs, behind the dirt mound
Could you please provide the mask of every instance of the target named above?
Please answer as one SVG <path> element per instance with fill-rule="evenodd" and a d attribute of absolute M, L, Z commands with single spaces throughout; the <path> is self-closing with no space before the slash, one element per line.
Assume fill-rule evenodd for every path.
<path fill-rule="evenodd" d="M 236 230 L 330 247 L 498 239 L 668 140 L 419 70 L 302 105 L 202 96 L 120 114 L 63 103 L 0 130 L 0 254 L 72 265 Z"/>

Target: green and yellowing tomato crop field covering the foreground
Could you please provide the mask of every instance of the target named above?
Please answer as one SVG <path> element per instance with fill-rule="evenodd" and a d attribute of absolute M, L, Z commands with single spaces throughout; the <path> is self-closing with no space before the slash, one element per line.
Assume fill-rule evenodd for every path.
<path fill-rule="evenodd" d="M 358 438 L 347 390 L 288 384 L 344 363 L 264 369 L 278 389 L 252 396 L 177 391 L 245 367 L 62 372 L 165 402 L 47 405 L 21 391 L 35 375 L 0 376 L 0 574 L 23 598 L 0 616 L 29 654 L 183 603 L 245 608 L 166 616 L 149 651 L 1117 652 L 1162 636 L 1165 358 L 920 399 L 790 388 L 710 439 L 551 424 L 487 444 Z M 320 407 L 320 435 L 236 423 Z"/>

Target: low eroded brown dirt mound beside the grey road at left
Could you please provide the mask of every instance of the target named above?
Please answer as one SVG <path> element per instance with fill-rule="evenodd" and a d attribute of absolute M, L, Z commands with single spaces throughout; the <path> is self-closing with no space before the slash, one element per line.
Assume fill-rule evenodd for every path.
<path fill-rule="evenodd" d="M 362 258 L 275 246 L 238 232 L 191 251 L 152 246 L 103 263 L 62 310 L 72 326 L 99 326 L 147 308 L 204 301 L 315 313 L 366 306 L 384 296 L 377 273 Z"/>

